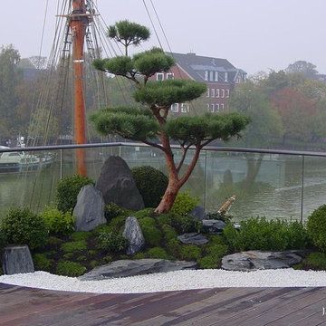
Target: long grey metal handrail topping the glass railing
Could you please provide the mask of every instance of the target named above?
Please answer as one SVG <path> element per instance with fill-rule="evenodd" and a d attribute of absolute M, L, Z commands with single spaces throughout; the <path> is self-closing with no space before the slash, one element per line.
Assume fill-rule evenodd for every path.
<path fill-rule="evenodd" d="M 117 146 L 133 146 L 133 147 L 149 147 L 144 143 L 135 142 L 109 142 L 109 143 L 91 143 L 91 144 L 70 144 L 70 145 L 49 145 L 49 146 L 35 146 L 24 148 L 8 148 L 0 149 L 0 153 L 13 151 L 40 151 L 40 150 L 55 150 L 55 149 L 91 149 L 101 147 L 117 147 Z M 178 145 L 172 145 L 173 149 L 180 149 Z M 191 149 L 191 148 L 190 148 Z M 208 151 L 228 151 L 239 153 L 262 153 L 262 154 L 281 154 L 293 156 L 311 156 L 311 157 L 326 157 L 326 152 L 309 151 L 309 150 L 283 150 L 283 149 L 249 149 L 249 148 L 233 148 L 224 146 L 206 146 L 204 150 Z"/>

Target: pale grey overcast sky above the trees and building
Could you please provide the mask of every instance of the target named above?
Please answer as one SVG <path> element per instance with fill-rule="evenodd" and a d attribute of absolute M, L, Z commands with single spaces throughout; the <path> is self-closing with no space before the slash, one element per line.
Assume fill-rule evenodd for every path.
<path fill-rule="evenodd" d="M 42 55 L 50 54 L 58 0 L 49 0 Z M 59 0 L 60 2 L 66 0 Z M 2 1 L 0 44 L 14 44 L 21 56 L 38 55 L 46 0 Z M 279 71 L 298 60 L 326 73 L 326 0 L 95 0 L 106 24 L 121 19 L 149 26 L 146 7 L 165 51 L 225 58 L 249 74 Z M 142 50 L 141 49 L 141 50 Z"/>

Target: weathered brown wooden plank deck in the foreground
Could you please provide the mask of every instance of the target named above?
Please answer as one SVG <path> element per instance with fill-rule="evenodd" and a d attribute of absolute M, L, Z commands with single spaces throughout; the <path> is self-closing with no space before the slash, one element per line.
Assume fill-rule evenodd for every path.
<path fill-rule="evenodd" d="M 0 325 L 326 325 L 326 288 L 94 294 L 0 283 Z"/>

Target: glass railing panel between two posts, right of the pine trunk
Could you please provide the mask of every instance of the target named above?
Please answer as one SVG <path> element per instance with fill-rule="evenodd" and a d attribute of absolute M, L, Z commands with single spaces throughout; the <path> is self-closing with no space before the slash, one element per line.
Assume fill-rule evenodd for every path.
<path fill-rule="evenodd" d="M 208 152 L 206 210 L 235 196 L 235 221 L 252 216 L 300 220 L 302 157 Z"/>

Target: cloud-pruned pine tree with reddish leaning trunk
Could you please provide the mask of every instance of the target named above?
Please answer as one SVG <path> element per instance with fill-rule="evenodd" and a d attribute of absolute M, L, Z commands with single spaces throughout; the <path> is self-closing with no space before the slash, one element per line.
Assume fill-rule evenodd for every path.
<path fill-rule="evenodd" d="M 117 28 L 119 29 L 119 26 Z M 129 29 L 129 38 L 132 39 L 132 29 Z M 214 139 L 227 140 L 239 135 L 249 122 L 241 113 L 206 113 L 195 117 L 168 119 L 173 103 L 193 101 L 206 92 L 206 85 L 202 82 L 150 80 L 157 72 L 168 72 L 174 64 L 173 58 L 158 48 L 133 56 L 117 56 L 94 62 L 97 69 L 123 76 L 136 85 L 133 97 L 139 102 L 139 107 L 102 109 L 94 113 L 91 120 L 103 135 L 120 135 L 163 151 L 168 168 L 168 187 L 156 208 L 158 214 L 170 210 L 177 192 L 193 172 L 200 150 Z M 172 140 L 177 141 L 183 150 L 179 160 L 176 160 L 171 149 Z M 194 154 L 187 170 L 180 175 L 189 149 L 194 149 Z"/>

